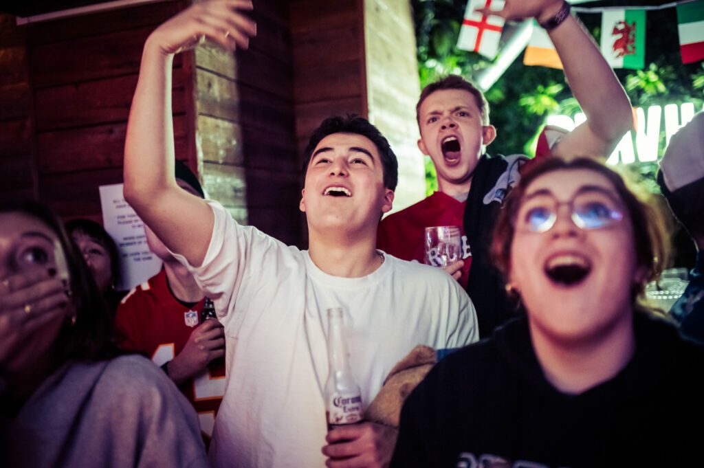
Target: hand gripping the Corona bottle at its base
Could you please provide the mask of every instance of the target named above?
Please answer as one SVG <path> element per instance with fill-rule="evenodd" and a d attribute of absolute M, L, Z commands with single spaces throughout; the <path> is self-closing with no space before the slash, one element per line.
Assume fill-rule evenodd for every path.
<path fill-rule="evenodd" d="M 388 467 L 398 438 L 398 429 L 373 422 L 332 429 L 325 436 L 322 453 L 328 468 Z"/>

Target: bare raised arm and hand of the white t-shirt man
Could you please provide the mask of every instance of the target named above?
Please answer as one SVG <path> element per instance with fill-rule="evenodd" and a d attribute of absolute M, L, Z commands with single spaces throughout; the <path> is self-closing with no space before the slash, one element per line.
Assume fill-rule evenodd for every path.
<path fill-rule="evenodd" d="M 256 25 L 241 11 L 251 9 L 249 0 L 195 4 L 154 30 L 142 53 L 125 141 L 125 199 L 168 248 L 195 266 L 205 258 L 213 213 L 174 177 L 173 58 L 205 39 L 230 51 L 246 49 Z"/>

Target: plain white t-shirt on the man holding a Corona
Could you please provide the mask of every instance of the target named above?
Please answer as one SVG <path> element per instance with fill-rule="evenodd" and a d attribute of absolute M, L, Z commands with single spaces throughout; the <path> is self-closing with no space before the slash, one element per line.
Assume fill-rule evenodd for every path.
<path fill-rule="evenodd" d="M 477 341 L 470 298 L 445 272 L 384 255 L 372 274 L 333 277 L 307 251 L 241 226 L 222 205 L 208 203 L 213 236 L 203 265 L 189 269 L 225 327 L 227 382 L 210 444 L 213 466 L 324 466 L 328 308 L 346 311 L 351 367 L 365 405 L 414 346 Z"/>

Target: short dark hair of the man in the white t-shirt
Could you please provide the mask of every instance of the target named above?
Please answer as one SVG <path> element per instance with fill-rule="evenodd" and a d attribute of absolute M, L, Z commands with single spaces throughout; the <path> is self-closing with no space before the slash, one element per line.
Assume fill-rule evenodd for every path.
<path fill-rule="evenodd" d="M 315 147 L 318 146 L 322 139 L 335 133 L 355 133 L 370 139 L 377 146 L 379 156 L 382 158 L 384 186 L 387 189 L 396 190 L 396 184 L 398 184 L 398 160 L 396 160 L 396 155 L 391 150 L 391 146 L 389 146 L 389 141 L 384 138 L 384 135 L 379 132 L 377 127 L 370 124 L 369 120 L 355 114 L 348 114 L 347 117 L 340 117 L 339 115 L 328 117 L 320 123 L 318 128 L 313 130 L 304 153 L 303 174 L 308 171 L 310 157 L 313 156 Z"/>

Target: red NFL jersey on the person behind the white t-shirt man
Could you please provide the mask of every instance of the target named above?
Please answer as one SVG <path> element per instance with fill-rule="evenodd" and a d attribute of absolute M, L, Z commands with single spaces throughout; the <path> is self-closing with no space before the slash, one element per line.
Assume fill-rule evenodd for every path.
<path fill-rule="evenodd" d="M 161 366 L 180 353 L 191 332 L 200 324 L 205 300 L 192 308 L 172 295 L 166 271 L 132 289 L 122 299 L 115 317 L 120 347 L 147 355 Z M 203 438 L 213 435 L 215 415 L 225 394 L 225 368 L 204 369 L 180 386 L 198 412 Z"/>

